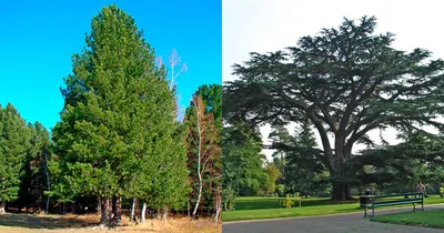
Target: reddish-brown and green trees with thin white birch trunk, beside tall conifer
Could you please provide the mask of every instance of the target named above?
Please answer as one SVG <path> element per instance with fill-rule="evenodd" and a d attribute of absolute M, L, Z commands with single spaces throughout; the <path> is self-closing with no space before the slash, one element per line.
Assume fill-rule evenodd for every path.
<path fill-rule="evenodd" d="M 222 85 L 201 85 L 185 111 L 188 168 L 194 209 L 208 206 L 220 219 L 222 196 Z"/>

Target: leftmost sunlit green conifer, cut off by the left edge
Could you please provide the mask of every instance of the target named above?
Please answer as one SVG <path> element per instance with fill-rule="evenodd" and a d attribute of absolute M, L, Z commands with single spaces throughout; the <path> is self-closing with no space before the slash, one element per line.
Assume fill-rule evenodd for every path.
<path fill-rule="evenodd" d="M 6 202 L 19 197 L 24 159 L 30 149 L 30 129 L 11 104 L 0 105 L 0 214 Z"/>

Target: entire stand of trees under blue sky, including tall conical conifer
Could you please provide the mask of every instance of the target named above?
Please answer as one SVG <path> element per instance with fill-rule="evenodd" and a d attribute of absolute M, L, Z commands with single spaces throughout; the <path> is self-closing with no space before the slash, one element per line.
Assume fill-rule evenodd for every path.
<path fill-rule="evenodd" d="M 202 149 L 209 153 L 199 214 L 213 210 L 219 221 L 222 85 L 196 90 L 203 121 L 196 124 L 192 103 L 180 122 L 175 50 L 168 80 L 143 32 L 115 4 L 92 19 L 85 43 L 72 57 L 72 73 L 61 88 L 61 121 L 51 133 L 39 122 L 27 124 L 12 104 L 0 107 L 0 213 L 6 205 L 28 213 L 43 207 L 62 214 L 100 212 L 102 224 L 113 224 L 133 201 L 154 212 L 151 217 L 161 213 L 163 219 L 195 201 L 193 159 Z M 206 131 L 199 146 L 191 139 L 198 125 Z"/>

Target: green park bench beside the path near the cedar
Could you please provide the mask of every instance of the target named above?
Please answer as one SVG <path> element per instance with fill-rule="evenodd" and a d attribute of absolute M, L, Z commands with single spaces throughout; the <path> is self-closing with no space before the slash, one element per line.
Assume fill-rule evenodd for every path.
<path fill-rule="evenodd" d="M 398 197 L 398 199 L 393 199 Z M 415 204 L 421 204 L 424 211 L 424 193 L 400 193 L 387 195 L 361 195 L 360 206 L 364 207 L 364 217 L 367 215 L 367 209 L 372 209 L 374 216 L 374 209 L 379 206 L 391 206 L 401 204 L 413 204 L 413 211 L 416 210 Z"/>

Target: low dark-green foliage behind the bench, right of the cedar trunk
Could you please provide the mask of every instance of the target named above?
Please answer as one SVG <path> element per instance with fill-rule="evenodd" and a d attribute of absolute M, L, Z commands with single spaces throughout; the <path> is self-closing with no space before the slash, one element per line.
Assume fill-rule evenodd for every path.
<path fill-rule="evenodd" d="M 412 192 L 420 180 L 440 185 L 444 138 L 422 130 L 400 133 L 404 142 L 367 149 L 350 161 L 359 185 L 383 192 Z"/>

